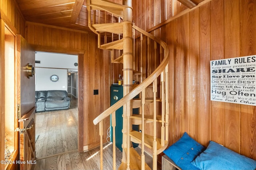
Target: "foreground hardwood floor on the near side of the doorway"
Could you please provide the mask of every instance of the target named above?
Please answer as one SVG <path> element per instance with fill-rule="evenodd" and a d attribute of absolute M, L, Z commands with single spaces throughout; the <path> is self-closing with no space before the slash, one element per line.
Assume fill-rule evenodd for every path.
<path fill-rule="evenodd" d="M 103 150 L 104 170 L 112 170 L 112 144 L 105 144 Z M 34 166 L 34 170 L 99 170 L 100 169 L 100 148 L 92 149 L 88 152 L 78 153 L 77 151 L 67 152 L 39 159 Z M 116 167 L 122 161 L 122 152 L 116 150 Z"/>

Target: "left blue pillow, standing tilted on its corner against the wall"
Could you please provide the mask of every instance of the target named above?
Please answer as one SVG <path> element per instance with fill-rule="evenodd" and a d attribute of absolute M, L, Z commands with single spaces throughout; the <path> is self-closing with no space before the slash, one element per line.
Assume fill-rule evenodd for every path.
<path fill-rule="evenodd" d="M 164 150 L 164 154 L 171 158 L 182 170 L 198 170 L 191 162 L 204 149 L 203 145 L 196 142 L 185 132 L 176 143 Z"/>

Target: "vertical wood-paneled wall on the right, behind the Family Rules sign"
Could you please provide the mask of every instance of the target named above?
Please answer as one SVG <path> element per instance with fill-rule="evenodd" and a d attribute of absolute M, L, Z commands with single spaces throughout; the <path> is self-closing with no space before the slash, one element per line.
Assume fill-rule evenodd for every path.
<path fill-rule="evenodd" d="M 212 0 L 192 10 L 176 0 L 133 3 L 135 24 L 170 48 L 169 145 L 186 131 L 256 160 L 256 107 L 210 101 L 210 61 L 256 54 L 256 1 Z"/>

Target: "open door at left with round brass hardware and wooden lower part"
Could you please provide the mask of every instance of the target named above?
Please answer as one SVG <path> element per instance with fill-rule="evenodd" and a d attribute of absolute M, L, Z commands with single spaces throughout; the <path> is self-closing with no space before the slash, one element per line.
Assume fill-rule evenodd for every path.
<path fill-rule="evenodd" d="M 26 40 L 17 35 L 17 99 L 20 104 L 20 170 L 31 170 L 36 164 L 35 153 L 35 51 Z"/>

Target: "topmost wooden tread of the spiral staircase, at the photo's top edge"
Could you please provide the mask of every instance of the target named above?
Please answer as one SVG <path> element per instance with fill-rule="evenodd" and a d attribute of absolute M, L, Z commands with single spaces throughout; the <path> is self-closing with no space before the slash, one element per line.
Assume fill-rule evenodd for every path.
<path fill-rule="evenodd" d="M 108 0 L 90 0 L 92 10 L 105 10 L 117 16 L 123 16 L 123 9 L 126 5 L 118 4 Z"/>

